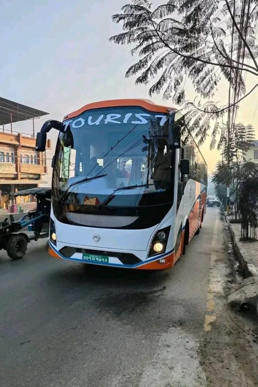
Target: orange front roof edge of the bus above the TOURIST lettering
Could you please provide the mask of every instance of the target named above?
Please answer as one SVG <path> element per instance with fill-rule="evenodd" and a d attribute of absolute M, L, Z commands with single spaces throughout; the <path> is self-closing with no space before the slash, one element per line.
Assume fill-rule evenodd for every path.
<path fill-rule="evenodd" d="M 169 106 L 156 105 L 154 102 L 148 99 L 140 99 L 140 98 L 111 99 L 107 101 L 93 102 L 93 103 L 84 105 L 82 108 L 76 110 L 75 112 L 69 113 L 67 116 L 64 117 L 64 119 L 67 120 L 69 118 L 77 117 L 79 114 L 82 114 L 86 110 L 110 108 L 110 107 L 118 107 L 118 106 L 139 106 L 141 108 L 144 108 L 146 110 L 149 110 L 155 113 L 168 113 L 168 111 L 177 110 L 176 108 L 171 108 Z"/>

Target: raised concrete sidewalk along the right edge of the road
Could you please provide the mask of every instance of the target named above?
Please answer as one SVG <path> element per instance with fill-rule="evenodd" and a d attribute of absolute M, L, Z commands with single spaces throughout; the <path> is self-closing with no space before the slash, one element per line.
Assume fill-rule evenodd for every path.
<path fill-rule="evenodd" d="M 229 219 L 226 217 L 244 280 L 232 289 L 228 301 L 231 305 L 254 305 L 258 313 L 258 241 L 241 241 L 241 224 L 230 223 Z"/>

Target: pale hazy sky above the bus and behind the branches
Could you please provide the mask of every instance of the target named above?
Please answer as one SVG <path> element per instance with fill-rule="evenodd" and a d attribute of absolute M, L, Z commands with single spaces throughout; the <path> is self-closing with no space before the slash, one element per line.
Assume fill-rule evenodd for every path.
<path fill-rule="evenodd" d="M 50 115 L 36 120 L 39 131 L 45 119 L 61 120 L 83 105 L 105 99 L 148 98 L 148 86 L 135 86 L 125 72 L 137 61 L 129 46 L 108 42 L 122 31 L 111 15 L 119 13 L 125 0 L 0 0 L 0 95 Z M 161 0 L 152 1 L 155 5 Z M 247 76 L 247 90 L 254 76 Z M 228 85 L 220 85 L 215 100 L 227 103 Z M 186 83 L 186 94 L 196 94 Z M 163 103 L 162 96 L 152 98 Z M 169 101 L 164 103 L 171 106 Z M 258 91 L 240 105 L 238 120 L 252 124 L 258 138 Z M 9 129 L 6 127 L 6 129 Z M 31 122 L 13 125 L 13 130 L 32 132 Z M 56 136 L 50 132 L 53 155 Z M 219 152 L 209 150 L 209 139 L 201 147 L 212 172 Z"/>

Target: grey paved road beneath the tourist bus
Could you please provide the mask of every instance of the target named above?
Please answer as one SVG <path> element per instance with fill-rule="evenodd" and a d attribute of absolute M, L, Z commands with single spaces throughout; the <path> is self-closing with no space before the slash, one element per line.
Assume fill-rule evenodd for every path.
<path fill-rule="evenodd" d="M 0 252 L 0 385 L 206 386 L 200 343 L 215 319 L 207 292 L 221 231 L 208 209 L 187 255 L 160 272 L 61 261 L 43 241 L 19 261 Z"/>

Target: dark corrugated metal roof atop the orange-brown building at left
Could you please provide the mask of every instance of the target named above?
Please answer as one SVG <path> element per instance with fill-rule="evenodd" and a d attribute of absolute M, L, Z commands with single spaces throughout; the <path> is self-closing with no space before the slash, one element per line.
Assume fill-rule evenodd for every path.
<path fill-rule="evenodd" d="M 0 97 L 0 125 L 46 116 L 47 112 Z"/>

